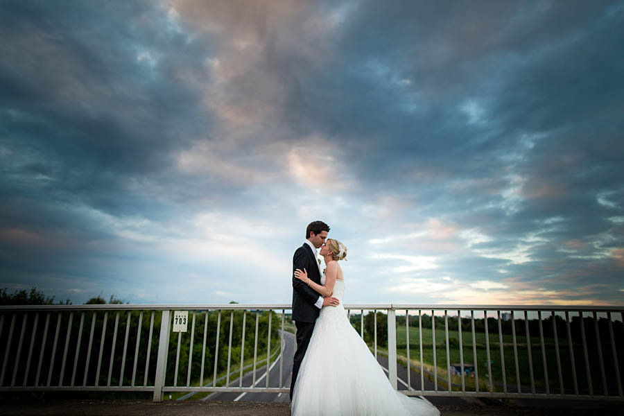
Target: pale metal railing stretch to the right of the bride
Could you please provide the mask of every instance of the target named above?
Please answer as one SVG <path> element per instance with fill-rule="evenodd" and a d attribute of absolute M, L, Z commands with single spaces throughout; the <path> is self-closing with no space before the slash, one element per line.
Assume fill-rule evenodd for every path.
<path fill-rule="evenodd" d="M 364 311 L 374 313 L 375 356 L 377 312 L 388 312 L 388 376 L 406 395 L 624 400 L 622 306 L 345 307 L 359 309 L 361 336 Z M 397 378 L 397 362 L 410 363 L 405 380 Z"/>

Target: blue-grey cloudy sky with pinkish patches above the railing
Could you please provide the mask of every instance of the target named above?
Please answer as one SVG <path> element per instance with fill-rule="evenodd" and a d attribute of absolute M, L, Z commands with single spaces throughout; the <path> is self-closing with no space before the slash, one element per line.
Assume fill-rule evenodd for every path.
<path fill-rule="evenodd" d="M 1 1 L 0 287 L 624 303 L 622 1 Z"/>

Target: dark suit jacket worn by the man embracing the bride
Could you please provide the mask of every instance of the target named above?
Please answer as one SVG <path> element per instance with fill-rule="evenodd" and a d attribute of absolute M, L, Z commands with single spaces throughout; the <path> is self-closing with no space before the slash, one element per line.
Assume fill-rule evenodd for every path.
<path fill-rule="evenodd" d="M 293 320 L 299 322 L 315 322 L 320 309 L 314 306 L 320 296 L 300 279 L 295 277 L 295 270 L 308 272 L 308 277 L 320 284 L 320 272 L 315 255 L 307 243 L 297 248 L 293 256 Z"/>

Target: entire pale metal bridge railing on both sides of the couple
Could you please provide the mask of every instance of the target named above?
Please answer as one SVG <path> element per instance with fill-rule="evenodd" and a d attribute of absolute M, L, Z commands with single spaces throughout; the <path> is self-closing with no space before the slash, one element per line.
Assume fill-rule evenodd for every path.
<path fill-rule="evenodd" d="M 387 356 L 392 386 L 400 383 L 409 396 L 624 400 L 621 306 L 345 309 L 372 354 Z M 286 393 L 290 310 L 291 304 L 0 306 L 0 391 L 151 392 L 155 401 L 166 392 Z M 172 331 L 173 311 L 188 311 L 188 331 Z"/>

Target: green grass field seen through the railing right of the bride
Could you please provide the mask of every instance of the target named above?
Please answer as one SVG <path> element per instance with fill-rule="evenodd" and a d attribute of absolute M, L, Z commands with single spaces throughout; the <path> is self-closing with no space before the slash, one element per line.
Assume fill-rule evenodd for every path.
<path fill-rule="evenodd" d="M 410 326 L 410 361 L 418 368 L 420 365 L 420 345 L 419 345 L 419 329 Z M 444 329 L 435 330 L 435 365 L 437 366 L 437 374 L 447 378 L 447 346 L 445 342 Z M 489 377 L 487 371 L 487 346 L 485 332 L 475 333 L 475 348 L 473 349 L 471 331 L 462 331 L 462 352 L 464 363 L 474 364 L 474 354 L 476 352 L 476 361 L 478 369 L 478 379 L 480 381 L 480 389 L 487 388 Z M 548 375 L 548 386 L 551 392 L 560 392 L 561 384 L 564 391 L 573 392 L 573 372 L 569 343 L 565 338 L 559 338 L 559 360 L 557 365 L 557 350 L 555 349 L 554 338 L 544 338 L 544 354 L 542 353 L 539 334 L 530 338 L 531 349 L 530 356 L 532 360 L 532 372 L 535 380 L 535 388 L 544 391 L 546 389 L 546 374 Z M 517 369 L 520 378 L 521 389 L 523 392 L 530 392 L 530 365 L 529 352 L 525 336 L 517 336 L 517 363 L 514 354 L 513 338 L 511 335 L 503 335 L 503 360 L 501 360 L 501 343 L 499 342 L 498 331 L 489 333 L 489 359 L 492 369 L 492 383 L 494 390 L 503 390 L 503 365 L 505 369 L 505 381 L 508 385 L 515 387 L 517 385 Z M 433 371 L 433 331 L 431 329 L 423 329 L 422 331 L 422 361 L 430 371 Z M 612 361 L 612 351 L 609 346 L 603 345 L 603 361 L 605 362 L 607 385 L 616 388 L 616 379 Z M 406 328 L 404 325 L 397 326 L 397 354 L 406 356 Z M 573 354 L 576 369 L 576 378 L 580 394 L 589 392 L 589 378 L 587 376 L 586 365 L 584 361 L 584 351 L 582 345 L 573 344 Z M 544 371 L 544 359 L 546 356 L 546 372 Z M 460 363 L 460 347 L 458 331 L 449 331 L 449 358 L 451 364 Z M 588 347 L 589 372 L 591 374 L 591 384 L 594 393 L 603 394 L 603 381 L 600 372 L 600 363 L 598 359 L 598 350 L 595 347 Z M 561 371 L 561 383 L 560 383 Z M 460 383 L 460 376 L 451 377 L 454 383 Z M 465 378 L 468 390 L 474 390 L 474 379 L 468 376 Z M 617 392 L 611 392 L 611 394 Z"/>

